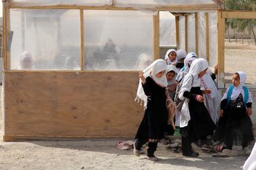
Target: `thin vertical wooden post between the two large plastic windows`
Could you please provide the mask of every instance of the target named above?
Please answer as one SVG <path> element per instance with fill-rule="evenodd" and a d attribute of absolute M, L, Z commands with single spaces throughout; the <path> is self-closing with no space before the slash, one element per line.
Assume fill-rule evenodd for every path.
<path fill-rule="evenodd" d="M 80 67 L 84 70 L 84 9 L 80 9 Z"/>

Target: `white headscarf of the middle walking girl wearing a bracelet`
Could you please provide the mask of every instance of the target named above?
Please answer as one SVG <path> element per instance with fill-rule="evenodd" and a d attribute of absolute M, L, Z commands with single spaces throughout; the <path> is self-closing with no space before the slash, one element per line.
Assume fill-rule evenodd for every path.
<path fill-rule="evenodd" d="M 198 74 L 203 70 L 208 68 L 208 62 L 204 60 L 204 58 L 198 58 L 194 62 L 192 62 L 189 73 L 184 77 L 183 85 L 181 87 L 181 91 L 179 92 L 179 98 L 184 100 L 183 93 L 185 91 L 190 91 L 191 87 L 200 87 L 201 81 Z M 193 78 L 191 77 L 193 76 Z"/>

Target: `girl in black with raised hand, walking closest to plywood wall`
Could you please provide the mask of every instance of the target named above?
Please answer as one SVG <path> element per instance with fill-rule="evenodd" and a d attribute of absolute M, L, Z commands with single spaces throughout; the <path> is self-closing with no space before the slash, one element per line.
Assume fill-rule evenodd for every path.
<path fill-rule="evenodd" d="M 151 161 L 157 161 L 154 155 L 158 142 L 164 137 L 167 123 L 166 80 L 167 64 L 159 59 L 139 72 L 140 82 L 136 101 L 143 100 L 145 114 L 135 136 L 134 154 L 141 155 L 141 147 L 148 142 L 147 156 Z"/>

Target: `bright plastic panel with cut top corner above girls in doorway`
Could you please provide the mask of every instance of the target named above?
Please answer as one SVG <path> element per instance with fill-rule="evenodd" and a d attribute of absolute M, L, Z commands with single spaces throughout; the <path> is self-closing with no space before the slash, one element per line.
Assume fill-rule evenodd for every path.
<path fill-rule="evenodd" d="M 175 16 L 160 12 L 160 47 L 176 46 Z"/>

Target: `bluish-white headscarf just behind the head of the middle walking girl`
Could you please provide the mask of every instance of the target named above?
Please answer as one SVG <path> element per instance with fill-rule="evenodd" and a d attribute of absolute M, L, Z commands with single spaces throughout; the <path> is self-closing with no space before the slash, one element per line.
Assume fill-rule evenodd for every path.
<path fill-rule="evenodd" d="M 189 72 L 189 66 L 196 59 L 198 59 L 198 56 L 196 56 L 196 54 L 194 52 L 187 54 L 187 56 L 184 60 L 184 70 L 181 69 L 176 78 L 176 80 L 178 82 L 181 81 L 181 79 L 183 79 L 183 77 L 185 77 L 185 75 L 187 75 L 187 73 Z"/>

